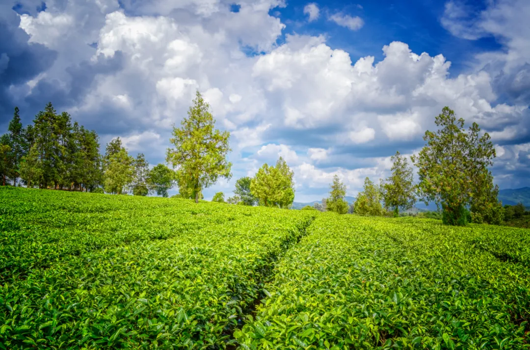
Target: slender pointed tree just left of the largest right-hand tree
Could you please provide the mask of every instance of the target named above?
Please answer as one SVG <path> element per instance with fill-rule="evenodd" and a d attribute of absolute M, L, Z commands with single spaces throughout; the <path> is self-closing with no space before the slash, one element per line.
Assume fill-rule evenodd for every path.
<path fill-rule="evenodd" d="M 398 217 L 400 209 L 410 209 L 416 203 L 416 186 L 407 158 L 398 151 L 390 159 L 392 174 L 385 181 L 381 181 L 380 188 L 385 208 L 392 209 L 394 216 Z"/>

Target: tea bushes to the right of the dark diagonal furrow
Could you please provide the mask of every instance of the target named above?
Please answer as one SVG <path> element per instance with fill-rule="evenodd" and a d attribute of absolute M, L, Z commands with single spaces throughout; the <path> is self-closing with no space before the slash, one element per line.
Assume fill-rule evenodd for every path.
<path fill-rule="evenodd" d="M 234 332 L 241 348 L 527 347 L 527 231 L 323 214 L 307 232 Z"/>

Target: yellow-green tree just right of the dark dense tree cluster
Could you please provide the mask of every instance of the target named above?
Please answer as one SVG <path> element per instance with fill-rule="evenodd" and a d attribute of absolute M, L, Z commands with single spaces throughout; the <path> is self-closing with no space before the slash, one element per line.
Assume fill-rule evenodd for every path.
<path fill-rule="evenodd" d="M 105 192 L 121 195 L 126 192 L 126 186 L 133 181 L 134 159 L 127 154 L 127 150 L 121 146 L 121 142 L 119 142 L 119 151 L 113 149 L 116 144 L 118 142 L 112 141 L 107 144 L 103 186 Z"/>

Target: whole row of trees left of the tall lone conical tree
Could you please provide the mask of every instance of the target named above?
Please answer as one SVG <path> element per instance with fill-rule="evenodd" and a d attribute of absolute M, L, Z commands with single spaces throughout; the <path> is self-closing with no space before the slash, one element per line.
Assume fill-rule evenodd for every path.
<path fill-rule="evenodd" d="M 149 170 L 143 153 L 133 158 L 120 138 L 100 154 L 99 136 L 66 112 L 58 114 L 51 103 L 22 126 L 15 107 L 8 132 L 0 137 L 2 185 L 40 189 L 168 196 L 174 172 L 164 164 Z"/>

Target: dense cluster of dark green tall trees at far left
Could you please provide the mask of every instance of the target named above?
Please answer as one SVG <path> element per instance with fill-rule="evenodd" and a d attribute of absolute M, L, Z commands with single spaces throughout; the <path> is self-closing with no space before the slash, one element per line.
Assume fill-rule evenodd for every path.
<path fill-rule="evenodd" d="M 8 133 L 0 137 L 2 185 L 91 191 L 101 183 L 98 134 L 86 130 L 51 103 L 22 126 L 15 107 Z"/>

